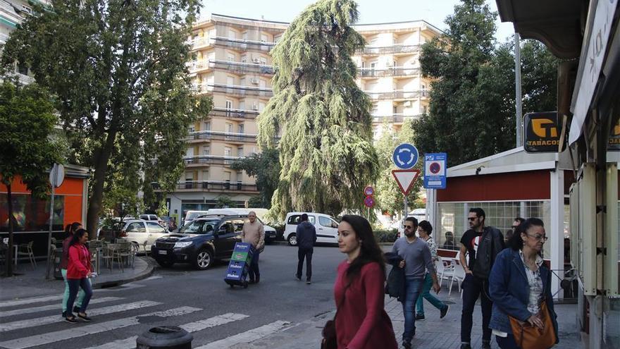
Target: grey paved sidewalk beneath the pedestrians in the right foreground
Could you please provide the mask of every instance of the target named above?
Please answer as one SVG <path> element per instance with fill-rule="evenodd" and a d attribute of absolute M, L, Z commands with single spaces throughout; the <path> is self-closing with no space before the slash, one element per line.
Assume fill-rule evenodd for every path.
<path fill-rule="evenodd" d="M 414 348 L 429 349 L 458 349 L 461 345 L 461 300 L 457 287 L 452 289 L 452 295 L 447 295 L 447 288 L 442 288 L 439 298 L 450 305 L 450 311 L 444 319 L 439 319 L 439 310 L 436 310 L 430 303 L 424 302 L 426 313 L 425 321 L 416 322 L 416 336 L 414 337 Z M 392 319 L 392 325 L 396 333 L 397 341 L 400 345 L 400 338 L 404 326 L 402 315 L 402 304 L 395 298 L 385 298 L 385 310 Z M 559 344 L 554 348 L 577 349 L 584 348 L 576 329 L 576 305 L 556 305 L 557 321 L 559 325 Z M 335 311 L 321 314 L 309 319 L 301 324 L 291 326 L 284 331 L 261 338 L 249 344 L 239 344 L 231 348 L 234 349 L 256 349 L 256 348 L 318 348 L 321 343 L 321 330 L 323 325 L 333 319 Z M 473 313 L 473 329 L 471 331 L 472 348 L 481 348 L 482 345 L 482 316 L 480 306 L 476 305 Z M 495 338 L 492 338 L 491 348 L 498 348 Z"/>

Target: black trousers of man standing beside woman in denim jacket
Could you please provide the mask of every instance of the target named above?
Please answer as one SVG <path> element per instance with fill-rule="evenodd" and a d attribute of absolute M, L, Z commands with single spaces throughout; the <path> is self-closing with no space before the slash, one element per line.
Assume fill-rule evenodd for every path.
<path fill-rule="evenodd" d="M 463 288 L 463 312 L 461 313 L 461 343 L 471 343 L 471 326 L 473 326 L 473 308 L 480 297 L 482 308 L 482 339 L 491 340 L 491 321 L 492 301 L 489 295 L 489 281 L 477 278 L 471 274 L 465 275 L 461 287 Z"/>

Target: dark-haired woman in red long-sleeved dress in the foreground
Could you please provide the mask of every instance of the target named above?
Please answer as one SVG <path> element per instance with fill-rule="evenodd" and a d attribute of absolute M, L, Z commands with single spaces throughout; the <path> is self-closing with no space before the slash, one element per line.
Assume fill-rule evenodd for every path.
<path fill-rule="evenodd" d="M 397 349 L 392 322 L 383 309 L 383 251 L 370 223 L 361 216 L 343 216 L 338 247 L 347 254 L 334 285 L 338 349 Z"/>

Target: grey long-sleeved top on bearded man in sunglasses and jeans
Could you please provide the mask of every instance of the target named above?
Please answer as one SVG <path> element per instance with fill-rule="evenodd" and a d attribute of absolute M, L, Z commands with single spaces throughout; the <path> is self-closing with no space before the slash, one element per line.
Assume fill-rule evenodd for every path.
<path fill-rule="evenodd" d="M 426 270 L 435 272 L 433 258 L 430 257 L 430 248 L 421 238 L 416 238 L 413 243 L 407 241 L 407 237 L 399 238 L 394 242 L 392 252 L 397 253 L 404 259 L 404 274 L 415 278 L 424 278 Z"/>

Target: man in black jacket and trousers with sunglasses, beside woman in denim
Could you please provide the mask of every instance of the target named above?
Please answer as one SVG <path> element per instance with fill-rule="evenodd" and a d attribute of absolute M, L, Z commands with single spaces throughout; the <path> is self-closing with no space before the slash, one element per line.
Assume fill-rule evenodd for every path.
<path fill-rule="evenodd" d="M 504 235 L 497 228 L 485 226 L 485 212 L 481 208 L 469 210 L 470 229 L 461 238 L 459 262 L 465 269 L 463 288 L 463 312 L 461 313 L 461 349 L 471 349 L 471 326 L 473 326 L 473 307 L 481 298 L 482 308 L 482 348 L 491 348 L 492 301 L 489 298 L 489 274 L 495 257 L 504 249 Z M 469 263 L 465 255 L 469 255 Z"/>

